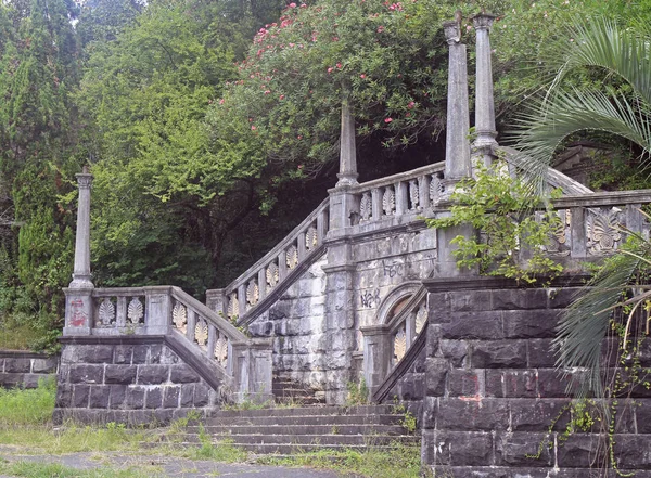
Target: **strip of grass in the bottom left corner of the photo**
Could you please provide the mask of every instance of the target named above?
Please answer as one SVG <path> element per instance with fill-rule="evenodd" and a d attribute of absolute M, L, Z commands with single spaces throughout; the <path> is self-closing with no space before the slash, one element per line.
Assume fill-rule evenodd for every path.
<path fill-rule="evenodd" d="M 58 463 L 36 463 L 28 461 L 0 462 L 0 474 L 26 478 L 144 478 L 159 476 L 135 467 L 127 469 L 108 467 L 77 469 Z"/>

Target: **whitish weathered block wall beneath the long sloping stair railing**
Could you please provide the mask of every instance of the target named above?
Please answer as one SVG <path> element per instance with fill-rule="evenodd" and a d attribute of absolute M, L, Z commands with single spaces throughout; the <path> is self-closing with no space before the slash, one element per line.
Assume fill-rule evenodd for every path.
<path fill-rule="evenodd" d="M 254 337 L 273 337 L 273 373 L 322 389 L 326 380 L 326 285 L 323 256 L 248 325 Z"/>

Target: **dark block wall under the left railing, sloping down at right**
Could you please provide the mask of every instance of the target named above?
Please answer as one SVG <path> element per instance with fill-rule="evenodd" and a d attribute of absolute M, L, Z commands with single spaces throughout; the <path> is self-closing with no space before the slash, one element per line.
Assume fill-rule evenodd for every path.
<path fill-rule="evenodd" d="M 220 402 L 219 387 L 208 385 L 165 337 L 62 341 L 56 423 L 167 424 Z"/>

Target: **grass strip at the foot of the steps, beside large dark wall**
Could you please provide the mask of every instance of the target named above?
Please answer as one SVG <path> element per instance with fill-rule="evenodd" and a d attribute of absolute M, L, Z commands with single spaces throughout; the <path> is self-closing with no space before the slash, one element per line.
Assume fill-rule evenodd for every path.
<path fill-rule="evenodd" d="M 305 452 L 290 457 L 260 457 L 258 463 L 279 466 L 309 466 L 333 469 L 342 476 L 369 478 L 418 478 L 420 477 L 420 447 L 395 445 L 392 449 L 367 451 L 321 450 Z"/>

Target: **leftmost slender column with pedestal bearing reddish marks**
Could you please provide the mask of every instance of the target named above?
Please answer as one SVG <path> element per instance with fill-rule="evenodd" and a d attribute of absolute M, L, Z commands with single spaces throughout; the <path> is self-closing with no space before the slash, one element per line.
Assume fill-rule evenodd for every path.
<path fill-rule="evenodd" d="M 92 175 L 84 167 L 76 175 L 79 185 L 77 205 L 77 236 L 75 238 L 75 268 L 73 281 L 65 294 L 65 325 L 63 335 L 90 335 L 92 327 L 92 284 L 90 275 L 90 188 Z"/>

